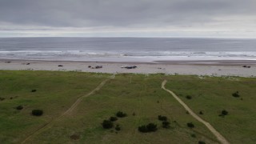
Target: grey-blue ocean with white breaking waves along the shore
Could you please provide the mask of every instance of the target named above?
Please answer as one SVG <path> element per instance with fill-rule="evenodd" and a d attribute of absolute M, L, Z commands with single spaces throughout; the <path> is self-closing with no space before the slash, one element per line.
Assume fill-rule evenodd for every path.
<path fill-rule="evenodd" d="M 256 39 L 0 38 L 0 58 L 93 62 L 256 60 Z"/>

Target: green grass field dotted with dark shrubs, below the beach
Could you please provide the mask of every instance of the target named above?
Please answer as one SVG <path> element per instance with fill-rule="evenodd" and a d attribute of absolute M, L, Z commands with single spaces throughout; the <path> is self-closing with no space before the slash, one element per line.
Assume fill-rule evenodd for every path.
<path fill-rule="evenodd" d="M 0 143 L 20 143 L 30 134 L 58 118 L 82 95 L 94 90 L 110 74 L 58 71 L 0 71 Z M 230 143 L 254 143 L 256 138 L 256 78 L 198 78 L 164 74 L 118 74 L 87 98 L 71 114 L 53 122 L 26 143 L 218 143 L 165 90 L 173 90 L 195 113 L 210 122 Z M 130 82 L 131 80 L 131 82 Z M 31 92 L 31 90 L 37 90 Z M 239 91 L 239 98 L 232 93 Z M 192 98 L 187 99 L 186 95 Z M 22 105 L 22 110 L 15 107 Z M 33 116 L 31 110 L 44 114 Z M 114 125 L 120 131 L 102 128 L 104 119 L 117 111 L 128 116 Z M 222 110 L 229 112 L 218 116 Z M 162 128 L 158 115 L 165 115 L 170 129 Z M 158 130 L 138 132 L 138 126 L 154 122 Z M 193 122 L 194 128 L 186 126 Z M 78 139 L 70 138 L 77 135 Z M 195 135 L 195 138 L 191 136 Z"/>

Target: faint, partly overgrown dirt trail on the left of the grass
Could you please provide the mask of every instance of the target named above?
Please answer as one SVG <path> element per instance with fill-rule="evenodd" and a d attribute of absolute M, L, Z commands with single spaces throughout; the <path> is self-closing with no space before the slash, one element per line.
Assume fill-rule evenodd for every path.
<path fill-rule="evenodd" d="M 111 77 L 114 78 L 114 75 Z M 81 97 L 79 97 L 72 106 L 70 106 L 70 108 L 68 110 L 66 110 L 64 113 L 62 113 L 60 116 L 58 116 L 58 118 L 53 119 L 52 121 L 46 123 L 44 126 L 40 127 L 38 130 L 34 131 L 34 133 L 30 134 L 26 139 L 24 139 L 21 143 L 26 143 L 26 141 L 28 141 L 30 138 L 32 138 L 34 135 L 36 134 L 40 134 L 43 130 L 45 130 L 46 128 L 48 128 L 51 124 L 53 124 L 54 122 L 62 119 L 65 115 L 67 114 L 72 114 L 73 110 L 78 106 L 78 104 L 80 102 L 82 102 L 83 98 L 86 98 L 88 96 L 90 96 L 91 94 L 94 94 L 97 90 L 100 90 L 102 88 L 102 86 L 105 85 L 105 83 L 107 81 L 109 81 L 111 78 L 107 78 L 106 80 L 104 80 L 103 82 L 101 82 L 94 90 L 90 91 L 90 93 L 83 95 Z"/>

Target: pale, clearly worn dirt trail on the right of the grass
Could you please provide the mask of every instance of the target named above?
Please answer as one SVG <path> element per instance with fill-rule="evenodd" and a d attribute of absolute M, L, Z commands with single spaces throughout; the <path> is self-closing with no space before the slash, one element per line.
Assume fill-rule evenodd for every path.
<path fill-rule="evenodd" d="M 228 142 L 226 140 L 226 138 L 224 138 L 222 136 L 222 134 L 219 134 L 217 130 L 214 129 L 213 126 L 210 125 L 209 122 L 206 122 L 205 120 L 203 120 L 202 118 L 200 118 L 197 114 L 195 114 L 189 106 L 186 105 L 186 103 L 182 102 L 182 100 L 180 98 L 178 98 L 178 96 L 176 94 L 174 94 L 174 92 L 166 89 L 165 85 L 166 85 L 166 80 L 164 80 L 162 82 L 162 89 L 166 90 L 167 92 L 169 92 L 171 95 L 173 95 L 173 97 L 190 113 L 190 115 L 192 117 L 194 117 L 195 119 L 197 119 L 199 122 L 202 122 L 202 124 L 204 124 L 212 134 L 215 135 L 215 137 L 218 139 L 219 142 L 223 143 L 223 144 L 229 144 L 230 142 Z"/>

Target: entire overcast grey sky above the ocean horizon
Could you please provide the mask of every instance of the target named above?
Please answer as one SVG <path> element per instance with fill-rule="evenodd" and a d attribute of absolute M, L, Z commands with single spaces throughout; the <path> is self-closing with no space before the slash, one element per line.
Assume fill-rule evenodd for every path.
<path fill-rule="evenodd" d="M 256 0 L 0 0 L 0 37 L 256 38 Z"/>

